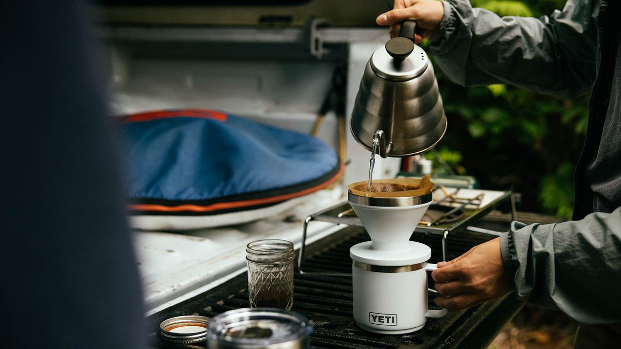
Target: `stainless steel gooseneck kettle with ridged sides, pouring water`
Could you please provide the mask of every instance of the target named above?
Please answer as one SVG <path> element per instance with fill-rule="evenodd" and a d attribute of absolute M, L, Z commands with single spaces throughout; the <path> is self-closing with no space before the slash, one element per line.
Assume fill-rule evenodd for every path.
<path fill-rule="evenodd" d="M 373 52 L 351 115 L 351 134 L 368 150 L 379 142 L 383 158 L 426 152 L 446 132 L 433 66 L 414 31 L 415 22 L 403 22 L 399 37 Z"/>

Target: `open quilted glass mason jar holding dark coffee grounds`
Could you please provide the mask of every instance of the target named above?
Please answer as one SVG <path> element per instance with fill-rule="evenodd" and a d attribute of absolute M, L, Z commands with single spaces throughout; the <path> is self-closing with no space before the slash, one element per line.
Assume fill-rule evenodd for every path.
<path fill-rule="evenodd" d="M 246 247 L 250 307 L 291 310 L 293 306 L 293 243 L 256 240 Z"/>

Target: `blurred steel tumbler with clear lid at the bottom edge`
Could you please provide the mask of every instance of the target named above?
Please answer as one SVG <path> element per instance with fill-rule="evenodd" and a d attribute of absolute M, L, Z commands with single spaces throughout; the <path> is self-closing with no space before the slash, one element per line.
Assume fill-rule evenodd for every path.
<path fill-rule="evenodd" d="M 215 316 L 207 330 L 207 347 L 304 349 L 309 347 L 311 322 L 291 310 L 243 308 Z"/>

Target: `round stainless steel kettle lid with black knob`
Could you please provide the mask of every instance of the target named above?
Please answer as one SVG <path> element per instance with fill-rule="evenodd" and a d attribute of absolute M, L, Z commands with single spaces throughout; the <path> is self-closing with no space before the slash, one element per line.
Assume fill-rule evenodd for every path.
<path fill-rule="evenodd" d="M 409 54 L 406 49 L 398 54 L 394 52 L 395 48 L 403 48 L 404 45 L 401 45 L 405 43 L 403 40 L 411 43 L 410 39 L 396 37 L 373 52 L 369 63 L 376 75 L 392 81 L 407 81 L 420 76 L 427 69 L 429 58 L 419 45 L 411 43 L 414 48 Z"/>

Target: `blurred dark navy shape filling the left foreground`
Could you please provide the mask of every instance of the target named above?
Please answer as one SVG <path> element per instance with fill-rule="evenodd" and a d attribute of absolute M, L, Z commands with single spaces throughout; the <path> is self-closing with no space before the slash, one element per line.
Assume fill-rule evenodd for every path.
<path fill-rule="evenodd" d="M 2 2 L 2 348 L 142 348 L 142 296 L 90 17 Z"/>

